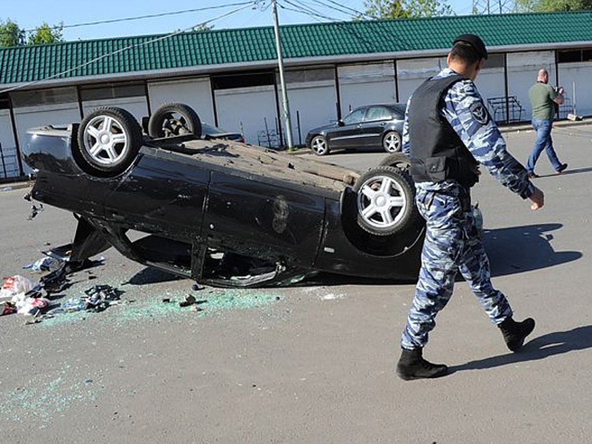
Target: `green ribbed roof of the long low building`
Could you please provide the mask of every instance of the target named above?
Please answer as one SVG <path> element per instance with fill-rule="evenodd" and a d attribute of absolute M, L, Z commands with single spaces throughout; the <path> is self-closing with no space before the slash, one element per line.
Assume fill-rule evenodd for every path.
<path fill-rule="evenodd" d="M 488 47 L 590 42 L 592 11 L 467 15 L 331 22 L 281 27 L 284 59 L 445 51 L 455 36 L 479 34 Z M 174 36 L 79 40 L 0 49 L 0 84 L 125 75 L 148 70 L 275 60 L 272 27 Z"/>

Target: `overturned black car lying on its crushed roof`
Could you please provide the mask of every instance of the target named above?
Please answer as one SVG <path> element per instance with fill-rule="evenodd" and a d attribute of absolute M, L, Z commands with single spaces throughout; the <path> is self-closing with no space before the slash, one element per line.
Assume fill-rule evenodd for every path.
<path fill-rule="evenodd" d="M 140 125 L 115 107 L 28 131 L 32 197 L 72 211 L 75 269 L 114 246 L 127 258 L 223 287 L 310 272 L 409 281 L 424 224 L 406 157 L 359 173 L 241 141 L 201 137 L 197 114 L 166 104 Z"/>

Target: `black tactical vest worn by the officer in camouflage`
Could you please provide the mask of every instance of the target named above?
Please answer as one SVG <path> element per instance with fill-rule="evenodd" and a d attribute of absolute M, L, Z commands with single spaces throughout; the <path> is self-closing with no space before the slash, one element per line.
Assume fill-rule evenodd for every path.
<path fill-rule="evenodd" d="M 415 182 L 453 179 L 471 187 L 479 180 L 478 162 L 448 120 L 440 115 L 446 92 L 462 79 L 465 77 L 458 74 L 427 79 L 411 97 L 408 130 L 411 176 Z"/>

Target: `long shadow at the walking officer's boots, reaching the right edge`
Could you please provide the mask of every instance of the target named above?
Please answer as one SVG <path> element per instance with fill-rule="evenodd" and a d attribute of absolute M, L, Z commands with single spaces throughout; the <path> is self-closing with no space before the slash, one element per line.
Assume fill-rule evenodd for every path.
<path fill-rule="evenodd" d="M 449 374 L 465 370 L 482 370 L 517 362 L 536 361 L 549 356 L 561 355 L 574 350 L 583 350 L 592 347 L 592 326 L 575 327 L 567 332 L 554 332 L 543 334 L 526 343 L 520 352 L 507 353 L 506 355 L 491 356 L 491 358 L 478 359 L 462 365 L 449 367 Z"/>

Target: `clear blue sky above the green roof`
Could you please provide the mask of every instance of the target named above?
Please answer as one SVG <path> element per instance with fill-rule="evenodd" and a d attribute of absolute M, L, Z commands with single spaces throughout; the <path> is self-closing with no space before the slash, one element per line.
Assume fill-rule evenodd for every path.
<path fill-rule="evenodd" d="M 280 25 L 348 21 L 355 11 L 365 11 L 363 0 L 277 1 Z M 67 41 L 169 34 L 191 30 L 204 22 L 215 30 L 273 24 L 271 0 L 259 0 L 257 4 L 255 0 L 170 3 L 162 0 L 18 0 L 2 3 L 0 21 L 11 20 L 25 30 L 33 30 L 43 22 L 49 25 L 62 22 L 62 36 Z M 448 4 L 456 15 L 471 14 L 472 0 L 448 0 Z M 145 17 L 149 15 L 156 17 Z"/>

